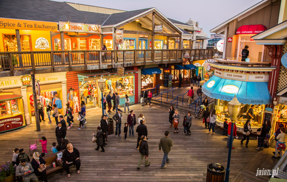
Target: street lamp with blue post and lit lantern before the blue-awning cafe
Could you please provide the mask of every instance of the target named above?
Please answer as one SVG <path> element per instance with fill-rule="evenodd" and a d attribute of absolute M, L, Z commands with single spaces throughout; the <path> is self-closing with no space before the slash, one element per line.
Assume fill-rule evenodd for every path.
<path fill-rule="evenodd" d="M 232 143 L 233 143 L 233 128 L 234 128 L 235 120 L 237 119 L 237 116 L 240 112 L 240 108 L 241 108 L 241 104 L 238 102 L 236 96 L 234 96 L 233 99 L 230 102 L 228 102 L 228 113 L 231 119 L 231 130 L 230 130 L 230 142 L 229 142 L 229 149 L 228 149 L 226 175 L 225 175 L 224 182 L 229 181 L 230 157 L 231 157 L 231 149 L 232 149 Z"/>

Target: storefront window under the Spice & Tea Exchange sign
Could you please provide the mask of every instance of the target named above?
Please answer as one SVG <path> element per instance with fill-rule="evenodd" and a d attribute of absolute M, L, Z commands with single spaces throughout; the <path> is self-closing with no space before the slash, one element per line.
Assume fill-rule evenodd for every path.
<path fill-rule="evenodd" d="M 30 51 L 30 35 L 20 35 L 22 51 Z M 4 48 L 6 52 L 17 52 L 16 35 L 3 34 Z"/>

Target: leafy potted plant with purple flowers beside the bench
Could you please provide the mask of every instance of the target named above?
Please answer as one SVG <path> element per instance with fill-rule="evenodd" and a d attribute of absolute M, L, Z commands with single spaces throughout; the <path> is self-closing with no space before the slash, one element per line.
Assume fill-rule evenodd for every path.
<path fill-rule="evenodd" d="M 3 165 L 0 166 L 0 182 L 15 182 L 15 168 L 11 161 L 5 161 Z"/>

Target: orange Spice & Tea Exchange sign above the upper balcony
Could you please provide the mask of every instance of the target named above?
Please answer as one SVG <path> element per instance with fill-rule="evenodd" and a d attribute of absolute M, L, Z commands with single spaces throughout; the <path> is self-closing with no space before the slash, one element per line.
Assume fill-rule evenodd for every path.
<path fill-rule="evenodd" d="M 0 18 L 0 29 L 56 31 L 57 23 Z"/>

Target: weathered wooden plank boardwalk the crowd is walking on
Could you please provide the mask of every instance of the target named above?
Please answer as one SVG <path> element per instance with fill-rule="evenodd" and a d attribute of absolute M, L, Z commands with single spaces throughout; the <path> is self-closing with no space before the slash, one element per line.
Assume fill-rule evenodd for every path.
<path fill-rule="evenodd" d="M 149 167 L 141 165 L 137 170 L 140 157 L 138 150 L 135 150 L 137 133 L 135 137 L 127 137 L 124 140 L 123 125 L 122 137 L 116 138 L 115 134 L 109 135 L 108 145 L 105 152 L 94 150 L 96 144 L 91 142 L 92 133 L 96 132 L 100 123 L 101 110 L 93 108 L 87 110 L 87 124 L 84 129 L 77 130 L 78 122 L 67 131 L 67 139 L 80 151 L 81 168 L 80 174 L 75 168 L 71 168 L 71 177 L 67 178 L 64 170 L 48 175 L 49 181 L 205 181 L 207 164 L 216 162 L 226 167 L 228 148 L 226 147 L 227 137 L 222 136 L 222 130 L 216 129 L 216 134 L 208 134 L 204 129 L 202 120 L 193 119 L 191 136 L 183 134 L 183 115 L 180 119 L 180 133 L 173 134 L 168 122 L 168 112 L 153 107 L 141 107 L 141 104 L 131 105 L 130 110 L 135 110 L 135 115 L 143 112 L 146 118 L 149 144 Z M 126 121 L 128 113 L 123 113 L 123 120 Z M 112 115 L 111 115 L 112 116 Z M 42 131 L 36 132 L 35 124 L 28 125 L 20 130 L 0 134 L 0 162 L 12 158 L 12 151 L 15 147 L 24 148 L 29 153 L 29 140 L 33 144 L 36 139 L 45 136 L 48 139 L 47 150 L 51 153 L 52 142 L 56 141 L 55 126 L 41 123 Z M 138 125 L 135 126 L 135 128 Z M 114 128 L 115 129 L 115 128 Z M 169 153 L 170 163 L 166 169 L 161 169 L 163 152 L 159 153 L 158 143 L 164 131 L 170 131 L 170 138 L 173 147 Z M 242 136 L 239 137 L 241 139 Z M 234 140 L 235 149 L 232 150 L 230 164 L 230 181 L 268 181 L 267 177 L 255 177 L 257 168 L 272 169 L 277 161 L 271 158 L 274 149 L 268 148 L 263 151 L 254 150 L 257 146 L 257 139 L 250 137 L 249 148 L 241 145 L 239 140 Z M 38 151 L 42 151 L 41 143 L 37 142 Z M 240 172 L 240 173 L 239 173 Z M 254 174 L 255 173 L 255 174 Z M 249 176 L 248 176 L 249 175 Z M 252 177 L 252 178 L 251 178 Z M 255 180 L 254 180 L 255 179 Z M 258 179 L 258 180 L 257 180 Z"/>

